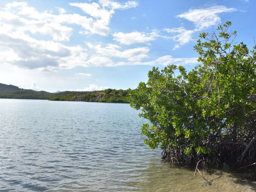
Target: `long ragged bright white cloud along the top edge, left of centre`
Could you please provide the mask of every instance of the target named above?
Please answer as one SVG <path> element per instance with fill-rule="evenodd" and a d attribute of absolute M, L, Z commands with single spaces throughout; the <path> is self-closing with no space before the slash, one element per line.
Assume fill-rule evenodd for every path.
<path fill-rule="evenodd" d="M 99 1 L 99 4 L 70 3 L 69 5 L 81 8 L 85 13 L 89 14 L 92 17 L 81 16 L 76 13 L 65 14 L 65 10 L 63 8 L 58 8 L 60 15 L 53 15 L 47 11 L 40 13 L 36 11 L 34 7 L 29 7 L 28 4 L 25 2 L 13 2 L 6 4 L 5 7 L 8 11 L 11 11 L 12 8 L 17 8 L 19 10 L 17 12 L 18 15 L 28 16 L 41 22 L 76 24 L 84 28 L 84 34 L 99 34 L 102 36 L 106 36 L 109 32 L 109 21 L 112 15 L 115 13 L 114 10 L 136 7 L 138 6 L 138 2 L 128 1 L 124 4 L 119 4 L 113 1 L 104 0 Z"/>

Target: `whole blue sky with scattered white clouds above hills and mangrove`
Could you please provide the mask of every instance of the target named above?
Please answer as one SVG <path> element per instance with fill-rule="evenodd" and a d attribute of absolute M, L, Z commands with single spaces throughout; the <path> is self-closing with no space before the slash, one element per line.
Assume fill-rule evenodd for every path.
<path fill-rule="evenodd" d="M 198 35 L 227 20 L 256 36 L 254 0 L 0 1 L 0 83 L 55 92 L 135 89 L 152 67 L 198 65 Z"/>

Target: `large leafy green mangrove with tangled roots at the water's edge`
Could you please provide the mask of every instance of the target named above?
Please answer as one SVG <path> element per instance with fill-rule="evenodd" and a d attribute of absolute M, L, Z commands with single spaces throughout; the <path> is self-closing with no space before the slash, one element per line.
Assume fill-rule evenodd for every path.
<path fill-rule="evenodd" d="M 132 108 L 150 121 L 141 128 L 145 143 L 160 145 L 169 161 L 237 168 L 256 162 L 256 45 L 249 51 L 236 44 L 230 26 L 200 34 L 191 71 L 153 67 L 147 83 L 129 90 Z"/>

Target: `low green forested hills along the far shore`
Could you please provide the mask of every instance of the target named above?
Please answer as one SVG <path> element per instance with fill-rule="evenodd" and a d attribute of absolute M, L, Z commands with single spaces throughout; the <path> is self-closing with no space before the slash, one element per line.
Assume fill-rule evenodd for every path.
<path fill-rule="evenodd" d="M 127 90 L 107 89 L 104 91 L 76 92 L 64 91 L 50 93 L 45 91 L 34 91 L 21 89 L 14 85 L 0 83 L 0 98 L 4 99 L 42 99 L 60 101 L 89 101 L 108 103 L 128 103 Z"/>

